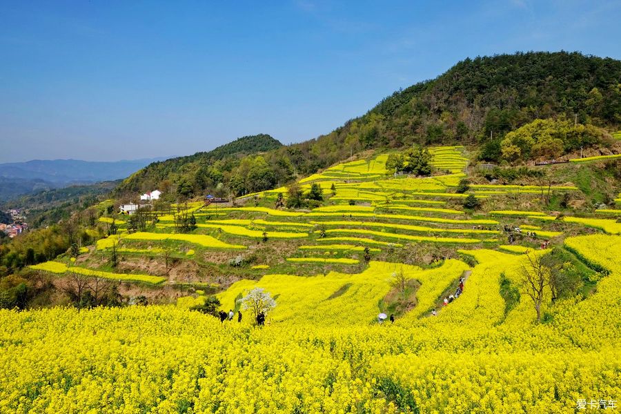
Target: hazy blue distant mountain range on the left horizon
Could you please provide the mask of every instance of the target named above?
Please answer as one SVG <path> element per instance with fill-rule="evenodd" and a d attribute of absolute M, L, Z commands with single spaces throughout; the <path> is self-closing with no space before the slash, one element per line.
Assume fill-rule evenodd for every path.
<path fill-rule="evenodd" d="M 152 162 L 164 159 L 168 157 L 122 161 L 34 159 L 0 164 L 0 201 L 39 190 L 125 178 Z"/>

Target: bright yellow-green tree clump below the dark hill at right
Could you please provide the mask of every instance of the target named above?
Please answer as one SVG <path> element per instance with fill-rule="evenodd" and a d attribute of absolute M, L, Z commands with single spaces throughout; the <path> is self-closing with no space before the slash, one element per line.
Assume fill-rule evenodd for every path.
<path fill-rule="evenodd" d="M 500 141 L 500 155 L 506 161 L 555 159 L 595 144 L 613 144 L 613 137 L 603 128 L 568 119 L 536 119 L 508 132 Z"/>

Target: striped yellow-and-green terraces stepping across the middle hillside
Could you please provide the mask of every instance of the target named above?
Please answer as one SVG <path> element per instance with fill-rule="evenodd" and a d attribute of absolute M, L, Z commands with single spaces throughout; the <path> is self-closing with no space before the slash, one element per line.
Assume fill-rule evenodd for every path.
<path fill-rule="evenodd" d="M 97 242 L 93 255 L 105 255 L 114 248 L 121 255 L 162 257 L 165 254 L 178 259 L 210 262 L 210 251 L 248 250 L 248 247 L 269 247 L 272 243 L 286 242 L 289 253 L 260 257 L 242 253 L 252 261 L 246 270 L 295 271 L 303 263 L 329 264 L 331 270 L 341 265 L 364 265 L 363 255 L 387 261 L 394 259 L 400 249 L 417 244 L 431 246 L 459 246 L 468 248 L 495 248 L 511 253 L 538 248 L 540 241 L 562 237 L 563 229 L 597 229 L 604 233 L 621 233 L 621 224 L 604 215 L 615 215 L 617 210 L 600 209 L 600 217 L 555 217 L 538 210 L 489 210 L 473 213 L 462 207 L 462 199 L 475 195 L 489 204 L 495 197 L 536 197 L 546 193 L 575 193 L 570 184 L 547 186 L 509 186 L 472 184 L 464 194 L 455 193 L 455 187 L 464 173 L 467 155 L 462 147 L 430 148 L 433 166 L 440 175 L 431 177 L 391 177 L 386 171 L 388 155 L 338 164 L 299 180 L 304 188 L 312 183 L 322 186 L 327 202 L 313 210 L 286 210 L 271 206 L 278 188 L 260 193 L 259 203 L 237 206 L 212 204 L 205 208 L 201 202 L 174 204 L 168 211 L 157 213 L 157 224 L 148 232 L 128 233 L 126 219 L 101 217 L 103 224 L 112 221 L 119 226 L 119 234 Z M 444 172 L 444 174 L 442 174 Z M 333 195 L 333 189 L 335 194 Z M 255 195 L 252 195 L 253 198 Z M 248 196 L 244 199 L 248 200 Z M 195 230 L 179 233 L 178 217 L 195 217 Z M 604 217 L 602 217 L 604 216 Z M 522 228 L 520 241 L 507 245 L 509 228 Z M 515 237 L 514 237 L 515 239 Z M 191 253 L 189 253 L 191 250 Z M 396 250 L 396 253 L 395 253 Z M 168 253 L 167 253 L 168 252 Z M 390 253 L 388 253 L 390 252 Z M 322 253 L 321 260 L 313 253 Z M 220 253 L 219 253 L 220 254 Z M 90 266 L 90 250 L 84 253 L 82 266 Z M 329 257 L 326 257 L 329 256 Z M 61 263 L 62 262 L 62 263 Z M 70 265 L 60 260 L 63 265 Z M 258 266 L 258 267 L 257 267 Z M 41 270 L 41 269 L 39 269 Z M 93 271 L 108 271 L 100 267 Z M 220 272 L 224 269 L 219 270 Z M 306 272 L 317 266 L 304 267 Z M 241 273 L 240 273 L 241 272 Z M 138 273 L 138 272 L 136 272 Z M 164 278 L 166 275 L 158 274 Z"/>

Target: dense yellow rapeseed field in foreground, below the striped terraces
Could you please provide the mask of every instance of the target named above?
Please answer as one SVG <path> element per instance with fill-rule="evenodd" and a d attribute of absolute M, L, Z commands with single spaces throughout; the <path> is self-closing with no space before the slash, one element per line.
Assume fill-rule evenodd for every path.
<path fill-rule="evenodd" d="M 0 411 L 573 413 L 580 400 L 608 404 L 621 395 L 621 237 L 565 243 L 608 274 L 586 299 L 555 304 L 545 324 L 526 300 L 504 315 L 500 274 L 517 280 L 525 256 L 484 249 L 463 251 L 477 264 L 458 300 L 394 325 L 364 318 L 393 271 L 382 263 L 361 275 L 244 282 L 279 293 L 278 317 L 263 328 L 172 306 L 0 311 Z M 422 309 L 466 268 L 455 260 L 404 271 L 422 282 Z M 326 304 L 343 282 L 358 288 Z M 324 311 L 305 317 L 304 300 Z"/>

